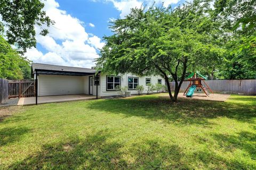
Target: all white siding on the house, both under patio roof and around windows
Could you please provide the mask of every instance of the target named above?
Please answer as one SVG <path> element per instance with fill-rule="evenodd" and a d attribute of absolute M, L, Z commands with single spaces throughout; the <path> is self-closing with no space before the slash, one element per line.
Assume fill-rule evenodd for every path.
<path fill-rule="evenodd" d="M 118 95 L 118 91 L 107 91 L 106 78 L 107 74 L 99 75 L 100 85 L 98 85 L 98 96 Z M 132 74 L 121 76 L 121 86 L 128 86 L 128 77 L 139 77 Z M 90 76 L 59 76 L 59 75 L 39 75 L 38 76 L 38 96 L 44 95 L 65 95 L 65 94 L 89 94 L 89 77 Z M 161 76 L 143 76 L 139 77 L 139 85 L 144 86 L 142 93 L 147 93 L 146 78 L 151 78 L 151 84 L 157 84 Z M 96 95 L 97 86 L 93 82 L 93 95 Z M 131 94 L 138 94 L 137 90 L 128 90 Z M 156 92 L 156 91 L 154 91 Z"/>

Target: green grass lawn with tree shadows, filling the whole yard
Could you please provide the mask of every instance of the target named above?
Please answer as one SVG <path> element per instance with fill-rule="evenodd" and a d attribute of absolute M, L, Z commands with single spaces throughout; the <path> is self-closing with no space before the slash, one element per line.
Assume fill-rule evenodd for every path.
<path fill-rule="evenodd" d="M 20 107 L 0 122 L 0 169 L 256 169 L 256 96 L 159 95 Z"/>

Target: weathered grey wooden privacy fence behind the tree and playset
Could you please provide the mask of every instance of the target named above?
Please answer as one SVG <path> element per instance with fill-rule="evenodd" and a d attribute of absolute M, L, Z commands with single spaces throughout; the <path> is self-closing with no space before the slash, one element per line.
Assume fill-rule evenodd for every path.
<path fill-rule="evenodd" d="M 256 94 L 256 79 L 241 80 L 205 80 L 213 92 L 233 93 L 233 94 Z M 174 90 L 175 82 L 170 82 L 171 89 Z M 183 82 L 180 91 L 185 91 L 189 82 Z"/>

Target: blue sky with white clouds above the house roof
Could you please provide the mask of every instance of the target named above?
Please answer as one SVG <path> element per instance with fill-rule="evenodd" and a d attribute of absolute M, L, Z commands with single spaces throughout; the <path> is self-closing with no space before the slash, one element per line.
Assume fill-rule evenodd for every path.
<path fill-rule="evenodd" d="M 49 28 L 50 34 L 39 35 L 36 26 L 36 48 L 25 54 L 33 62 L 63 66 L 90 68 L 99 57 L 99 48 L 104 45 L 103 36 L 113 34 L 108 28 L 109 21 L 124 18 L 131 7 L 142 4 L 175 6 L 184 0 L 46 0 L 44 10 L 55 21 Z"/>

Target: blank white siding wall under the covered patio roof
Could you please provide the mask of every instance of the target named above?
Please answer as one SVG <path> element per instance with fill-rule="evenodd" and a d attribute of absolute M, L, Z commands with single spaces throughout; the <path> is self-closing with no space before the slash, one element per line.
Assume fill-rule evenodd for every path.
<path fill-rule="evenodd" d="M 81 76 L 38 76 L 38 96 L 82 93 L 84 93 L 84 78 Z"/>

